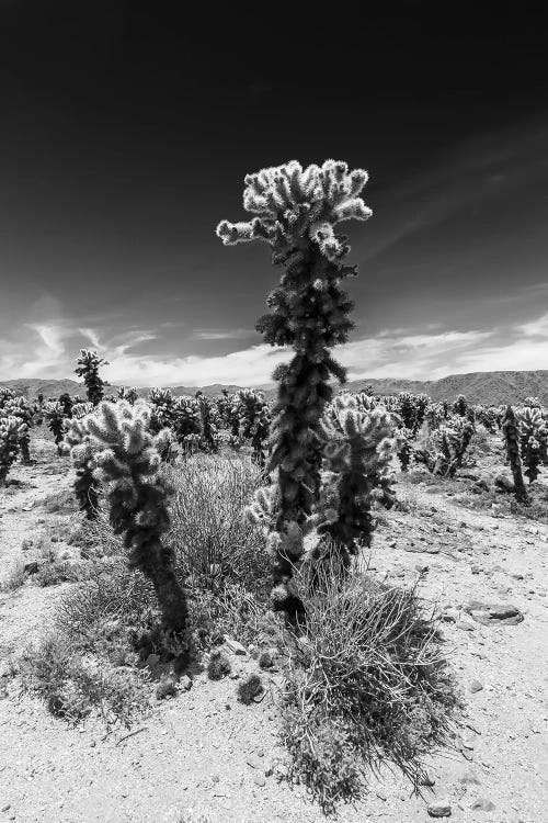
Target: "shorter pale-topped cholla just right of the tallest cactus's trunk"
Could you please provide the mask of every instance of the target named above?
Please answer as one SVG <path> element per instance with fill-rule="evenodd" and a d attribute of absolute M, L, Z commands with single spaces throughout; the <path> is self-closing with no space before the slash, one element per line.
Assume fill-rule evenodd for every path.
<path fill-rule="evenodd" d="M 327 508 L 319 534 L 331 538 L 350 561 L 373 537 L 372 504 L 393 505 L 391 458 L 397 449 L 395 421 L 381 405 L 366 408 L 352 395 L 335 397 L 321 421 L 327 476 Z"/>

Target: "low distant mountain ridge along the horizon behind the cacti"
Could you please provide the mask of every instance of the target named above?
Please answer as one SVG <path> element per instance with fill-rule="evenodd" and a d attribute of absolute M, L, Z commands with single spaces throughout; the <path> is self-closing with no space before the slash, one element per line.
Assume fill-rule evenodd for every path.
<path fill-rule="evenodd" d="M 398 380 L 396 377 L 372 377 L 363 380 L 352 380 L 346 383 L 345 388 L 351 392 L 359 392 L 364 386 L 370 384 L 376 394 L 399 394 L 399 392 L 411 392 L 420 394 L 424 392 L 433 401 L 454 401 L 458 394 L 465 394 L 470 403 L 483 403 L 486 405 L 499 406 L 503 403 L 520 403 L 527 396 L 538 397 L 540 402 L 548 406 L 548 370 L 538 370 L 532 372 L 472 372 L 470 374 L 450 374 L 441 380 Z M 28 377 L 25 380 L 5 380 L 0 381 L 0 387 L 7 386 L 14 388 L 18 394 L 34 399 L 38 392 L 44 397 L 58 397 L 59 394 L 68 392 L 69 394 L 85 395 L 83 383 L 77 383 L 75 380 L 39 380 L 38 377 Z M 167 386 L 173 394 L 186 394 L 193 396 L 198 390 L 204 392 L 208 397 L 220 394 L 222 390 L 237 392 L 242 386 L 224 385 L 214 383 L 208 386 Z M 116 391 L 117 386 L 113 385 L 112 390 Z M 265 396 L 272 399 L 276 395 L 274 385 L 261 386 Z M 141 397 L 146 397 L 149 387 L 139 387 L 138 392 Z"/>

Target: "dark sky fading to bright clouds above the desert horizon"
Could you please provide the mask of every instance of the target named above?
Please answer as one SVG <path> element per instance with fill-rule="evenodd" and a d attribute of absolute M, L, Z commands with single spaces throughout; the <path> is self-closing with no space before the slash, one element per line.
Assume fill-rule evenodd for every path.
<path fill-rule="evenodd" d="M 351 374 L 548 368 L 539 4 L 309 8 L 0 0 L 0 380 L 265 382 L 278 273 L 215 226 L 329 157 L 370 174 Z"/>

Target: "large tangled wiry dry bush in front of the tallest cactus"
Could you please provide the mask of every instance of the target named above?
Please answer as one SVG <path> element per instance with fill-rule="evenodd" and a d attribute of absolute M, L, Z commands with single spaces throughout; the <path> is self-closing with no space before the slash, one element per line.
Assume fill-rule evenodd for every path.
<path fill-rule="evenodd" d="M 327 814 L 358 800 L 367 774 L 396 764 L 416 787 L 459 700 L 416 588 L 396 588 L 336 556 L 298 577 L 306 628 L 288 642 L 283 737 L 289 780 Z"/>

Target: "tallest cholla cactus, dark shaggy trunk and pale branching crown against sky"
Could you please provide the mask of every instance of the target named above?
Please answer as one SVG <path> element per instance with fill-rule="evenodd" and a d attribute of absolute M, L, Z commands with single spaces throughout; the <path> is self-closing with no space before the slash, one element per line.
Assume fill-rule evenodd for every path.
<path fill-rule="evenodd" d="M 342 264 L 350 247 L 334 227 L 369 217 L 370 210 L 358 196 L 366 181 L 366 171 L 350 171 L 335 160 L 306 169 L 292 160 L 262 169 L 244 180 L 243 207 L 256 216 L 217 226 L 226 245 L 266 241 L 273 263 L 285 269 L 267 298 L 270 313 L 256 324 L 266 342 L 295 351 L 273 375 L 279 385 L 269 469 L 277 470 L 279 532 L 286 523 L 302 522 L 319 495 L 320 419 L 332 398 L 331 379 L 345 380 L 330 349 L 345 342 L 352 328 L 352 302 L 340 283 L 356 274 L 356 267 Z M 281 552 L 275 576 L 287 573 Z"/>

